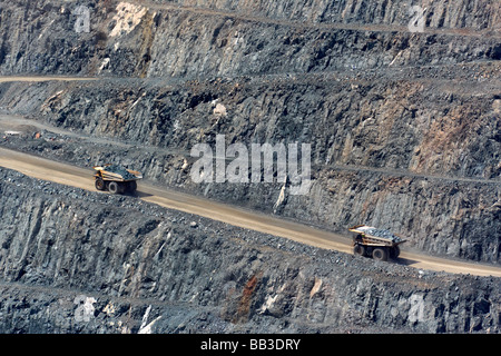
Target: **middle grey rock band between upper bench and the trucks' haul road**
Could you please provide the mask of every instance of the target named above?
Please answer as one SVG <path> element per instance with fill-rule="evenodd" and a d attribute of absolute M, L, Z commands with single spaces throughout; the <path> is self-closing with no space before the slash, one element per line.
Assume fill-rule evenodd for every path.
<path fill-rule="evenodd" d="M 372 81 L 357 75 L 188 83 L 148 79 L 137 86 L 122 80 L 4 83 L 0 102 L 66 130 L 130 145 L 47 141 L 42 147 L 43 139 L 23 139 L 12 147 L 76 165 L 126 162 L 149 179 L 215 199 L 342 233 L 373 225 L 430 253 L 499 263 L 498 99 L 468 81 L 499 66 L 459 70 L 471 89 L 446 80 L 410 81 L 407 72 L 389 75 L 390 81 L 376 73 Z M 214 113 L 214 100 L 225 106 L 226 116 Z M 218 134 L 247 147 L 311 144 L 308 194 L 293 196 L 287 185 L 275 207 L 282 181 L 195 184 L 190 149 L 199 142 L 214 146 Z"/>

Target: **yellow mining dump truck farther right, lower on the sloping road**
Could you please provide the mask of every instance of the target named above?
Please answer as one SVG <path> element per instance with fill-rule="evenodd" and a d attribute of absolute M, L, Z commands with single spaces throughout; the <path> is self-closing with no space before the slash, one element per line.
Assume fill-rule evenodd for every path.
<path fill-rule="evenodd" d="M 372 226 L 356 225 L 348 229 L 356 235 L 353 237 L 353 253 L 376 260 L 387 260 L 397 258 L 400 255 L 400 244 L 405 243 L 400 236 Z"/>

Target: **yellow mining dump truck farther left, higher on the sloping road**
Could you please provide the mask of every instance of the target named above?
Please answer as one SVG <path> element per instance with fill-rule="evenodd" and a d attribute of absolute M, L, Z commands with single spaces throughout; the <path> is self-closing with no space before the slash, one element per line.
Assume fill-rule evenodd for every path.
<path fill-rule="evenodd" d="M 118 165 L 95 166 L 96 189 L 108 190 L 111 194 L 135 192 L 137 180 L 143 175 L 137 170 L 126 169 Z"/>

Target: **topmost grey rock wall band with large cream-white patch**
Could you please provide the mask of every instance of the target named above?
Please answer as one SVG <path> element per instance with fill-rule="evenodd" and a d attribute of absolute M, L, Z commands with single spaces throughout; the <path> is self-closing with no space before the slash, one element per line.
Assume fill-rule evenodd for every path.
<path fill-rule="evenodd" d="M 179 4 L 2 1 L 0 72 L 210 78 L 501 58 L 497 0 Z"/>

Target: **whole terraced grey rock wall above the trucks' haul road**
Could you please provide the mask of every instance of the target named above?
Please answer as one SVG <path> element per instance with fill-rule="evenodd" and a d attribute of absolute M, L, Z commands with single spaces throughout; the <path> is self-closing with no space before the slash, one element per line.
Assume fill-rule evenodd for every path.
<path fill-rule="evenodd" d="M 9 1 L 2 73 L 121 79 L 3 83 L 1 102 L 139 146 L 59 149 L 77 165 L 122 161 L 212 198 L 338 231 L 372 224 L 430 253 L 499 263 L 500 185 L 456 179 L 501 172 L 495 2 L 89 1 L 86 32 L 67 2 Z M 428 32 L 409 30 L 412 6 L 426 9 Z M 189 150 L 217 134 L 228 144 L 311 144 L 310 192 L 292 196 L 287 186 L 281 196 L 282 182 L 195 185 Z"/>

